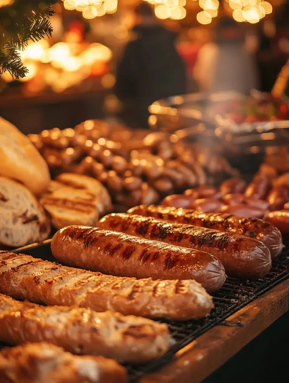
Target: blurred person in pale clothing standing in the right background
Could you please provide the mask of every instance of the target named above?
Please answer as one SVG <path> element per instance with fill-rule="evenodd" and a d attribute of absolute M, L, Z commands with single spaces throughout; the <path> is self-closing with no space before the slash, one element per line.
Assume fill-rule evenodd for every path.
<path fill-rule="evenodd" d="M 216 24 L 215 41 L 201 47 L 193 70 L 200 91 L 234 90 L 249 95 L 257 88 L 258 75 L 251 56 L 256 47 L 251 45 L 246 49 L 239 24 L 230 16 L 222 16 Z"/>

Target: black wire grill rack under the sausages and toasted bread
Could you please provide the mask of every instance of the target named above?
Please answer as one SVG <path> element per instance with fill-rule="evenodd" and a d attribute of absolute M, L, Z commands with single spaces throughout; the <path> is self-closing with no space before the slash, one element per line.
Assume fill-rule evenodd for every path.
<path fill-rule="evenodd" d="M 28 254 L 32 257 L 44 260 L 55 261 L 50 250 L 50 241 L 47 240 L 41 244 L 32 244 L 14 250 L 16 254 Z M 285 247 L 280 257 L 272 264 L 271 271 L 262 279 L 254 282 L 228 278 L 223 287 L 213 294 L 215 308 L 205 319 L 198 321 L 160 321 L 168 323 L 170 332 L 175 344 L 170 348 L 167 354 L 152 362 L 145 364 L 126 364 L 130 382 L 136 382 L 144 374 L 157 370 L 170 362 L 173 355 L 194 339 L 212 327 L 223 323 L 226 318 L 246 306 L 254 299 L 258 298 L 265 291 L 289 278 L 289 236 L 284 238 Z M 226 322 L 228 325 L 228 322 Z M 230 322 L 229 322 L 230 325 Z M 234 323 L 234 325 L 236 325 Z M 237 324 L 238 325 L 238 324 Z"/>

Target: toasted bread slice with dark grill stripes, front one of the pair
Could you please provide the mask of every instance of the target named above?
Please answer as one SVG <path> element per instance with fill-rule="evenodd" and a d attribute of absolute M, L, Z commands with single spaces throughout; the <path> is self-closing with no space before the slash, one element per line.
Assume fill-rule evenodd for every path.
<path fill-rule="evenodd" d="M 56 229 L 71 224 L 96 225 L 99 218 L 96 197 L 86 189 L 62 187 L 40 200 Z"/>

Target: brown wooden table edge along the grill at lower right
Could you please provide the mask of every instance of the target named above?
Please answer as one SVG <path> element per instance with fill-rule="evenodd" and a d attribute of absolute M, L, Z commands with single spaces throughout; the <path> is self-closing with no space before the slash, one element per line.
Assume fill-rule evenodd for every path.
<path fill-rule="evenodd" d="M 289 279 L 226 319 L 241 322 L 241 326 L 213 327 L 178 351 L 168 365 L 145 375 L 139 383 L 199 383 L 286 313 L 288 306 Z"/>

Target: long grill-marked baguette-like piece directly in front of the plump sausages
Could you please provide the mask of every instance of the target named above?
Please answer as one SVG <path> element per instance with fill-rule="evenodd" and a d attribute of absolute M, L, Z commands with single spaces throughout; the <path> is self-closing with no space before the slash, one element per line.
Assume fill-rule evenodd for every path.
<path fill-rule="evenodd" d="M 197 319 L 213 307 L 211 296 L 194 280 L 112 277 L 7 251 L 0 251 L 0 292 L 35 303 L 149 318 Z"/>

